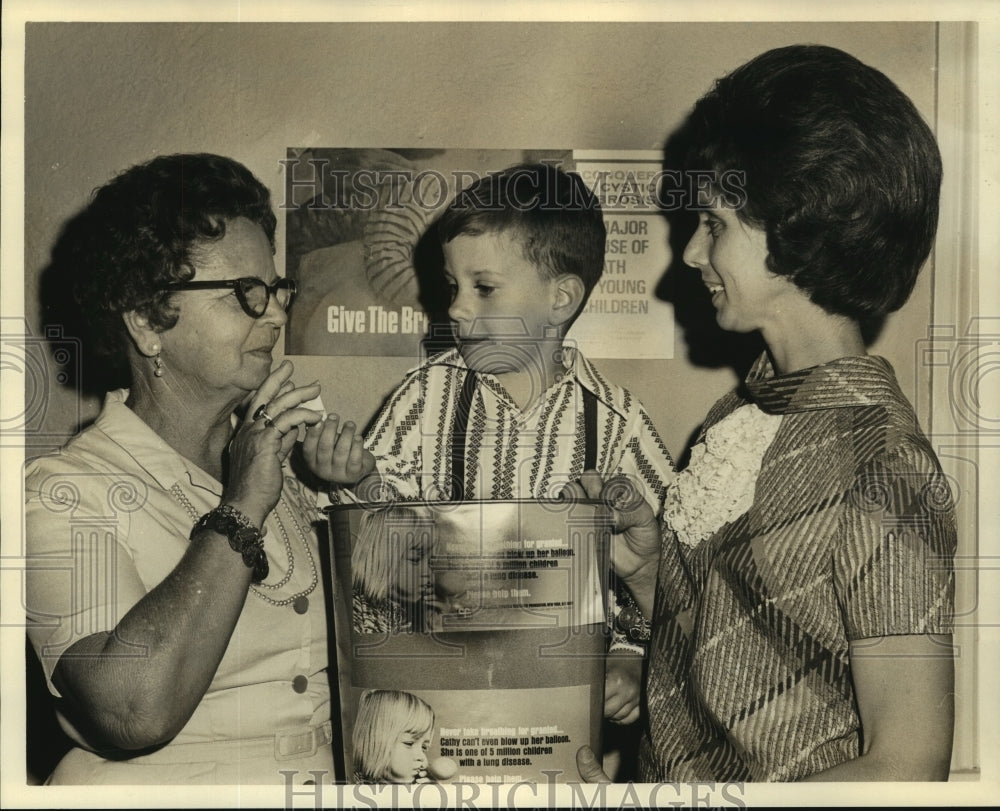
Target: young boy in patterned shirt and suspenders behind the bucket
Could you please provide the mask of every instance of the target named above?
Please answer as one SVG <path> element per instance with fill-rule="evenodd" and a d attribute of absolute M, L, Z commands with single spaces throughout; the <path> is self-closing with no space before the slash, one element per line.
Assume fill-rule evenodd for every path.
<path fill-rule="evenodd" d="M 600 203 L 580 176 L 547 164 L 488 175 L 437 228 L 457 348 L 409 372 L 369 428 L 379 498 L 554 498 L 596 469 L 659 514 L 670 454 L 639 401 L 566 341 L 604 269 Z M 616 632 L 619 650 L 644 652 Z M 609 719 L 637 717 L 641 666 L 611 658 Z"/>

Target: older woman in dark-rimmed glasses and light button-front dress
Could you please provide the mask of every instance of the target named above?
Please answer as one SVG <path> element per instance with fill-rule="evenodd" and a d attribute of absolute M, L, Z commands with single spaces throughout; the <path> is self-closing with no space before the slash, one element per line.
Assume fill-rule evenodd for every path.
<path fill-rule="evenodd" d="M 63 234 L 88 348 L 122 362 L 93 425 L 26 474 L 28 636 L 76 746 L 50 783 L 296 783 L 332 776 L 315 493 L 299 434 L 355 481 L 354 426 L 307 406 L 272 350 L 267 189 L 172 155 L 99 189 Z M 67 294 L 70 291 L 66 291 Z"/>

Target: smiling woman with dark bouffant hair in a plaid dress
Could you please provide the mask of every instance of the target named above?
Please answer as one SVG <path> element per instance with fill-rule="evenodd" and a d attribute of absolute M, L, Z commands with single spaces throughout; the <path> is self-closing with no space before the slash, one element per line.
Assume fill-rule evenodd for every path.
<path fill-rule="evenodd" d="M 822 46 L 720 79 L 686 135 L 688 170 L 728 181 L 692 201 L 684 261 L 720 326 L 766 352 L 709 412 L 662 534 L 641 500 L 619 512 L 615 565 L 652 620 L 640 777 L 946 779 L 954 509 L 863 337 L 930 251 L 934 137 L 888 78 Z M 580 768 L 602 779 L 589 751 Z"/>

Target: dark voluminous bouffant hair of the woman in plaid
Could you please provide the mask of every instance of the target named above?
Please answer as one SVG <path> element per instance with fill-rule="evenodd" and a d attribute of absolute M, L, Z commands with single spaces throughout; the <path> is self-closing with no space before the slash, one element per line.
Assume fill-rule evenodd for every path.
<path fill-rule="evenodd" d="M 689 171 L 742 173 L 737 214 L 766 232 L 773 273 L 859 322 L 903 305 L 937 229 L 941 158 L 885 75 L 836 48 L 778 48 L 719 79 L 687 129 Z"/>

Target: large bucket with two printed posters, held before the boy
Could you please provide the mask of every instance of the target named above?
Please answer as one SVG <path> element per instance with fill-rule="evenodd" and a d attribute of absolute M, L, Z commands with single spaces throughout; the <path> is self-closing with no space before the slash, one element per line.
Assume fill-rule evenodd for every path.
<path fill-rule="evenodd" d="M 602 505 L 401 502 L 331 516 L 353 747 L 344 757 L 356 781 L 544 782 L 552 772 L 562 782 L 580 746 L 600 750 Z"/>

